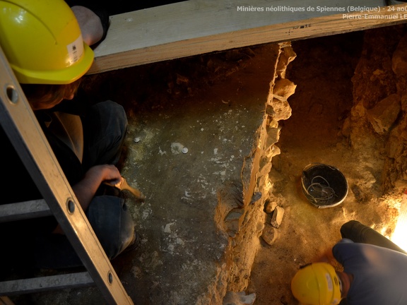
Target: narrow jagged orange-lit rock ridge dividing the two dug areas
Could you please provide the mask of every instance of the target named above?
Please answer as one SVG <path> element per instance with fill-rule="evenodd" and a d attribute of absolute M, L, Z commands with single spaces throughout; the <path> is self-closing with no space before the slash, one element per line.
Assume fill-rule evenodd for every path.
<path fill-rule="evenodd" d="M 264 206 L 272 186 L 272 181 L 269 179 L 271 159 L 280 153 L 280 149 L 276 146 L 280 134 L 278 121 L 290 117 L 291 108 L 288 97 L 293 95 L 296 87 L 294 83 L 284 78 L 285 68 L 295 59 L 295 52 L 289 43 L 276 44 L 273 50 L 276 52 L 275 73 L 270 83 L 266 115 L 257 131 L 256 146 L 249 158 L 244 160 L 242 196 L 239 196 L 238 184 L 225 186 L 218 193 L 220 196 L 218 196 L 217 210 L 222 210 L 222 215 L 226 214 L 220 217 L 219 225 L 228 233 L 232 248 L 232 272 L 228 275 L 227 282 L 228 291 L 231 292 L 242 292 L 248 285 L 256 248 L 259 246 L 259 237 L 265 229 Z M 261 198 L 255 198 L 256 194 L 261 194 Z M 226 206 L 228 208 L 225 208 Z M 276 209 L 281 208 L 276 207 Z M 225 211 L 229 212 L 225 213 Z M 278 218 L 274 221 L 276 223 L 281 222 L 283 215 L 281 210 L 279 212 L 276 216 Z M 274 232 L 270 232 L 270 228 L 266 228 L 266 231 L 268 233 L 265 233 L 265 237 L 269 237 L 269 242 L 272 242 L 271 234 Z"/>

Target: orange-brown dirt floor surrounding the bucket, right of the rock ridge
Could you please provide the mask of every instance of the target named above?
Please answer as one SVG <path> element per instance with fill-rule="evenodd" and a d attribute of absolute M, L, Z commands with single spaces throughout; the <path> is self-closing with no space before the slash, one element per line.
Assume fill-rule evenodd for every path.
<path fill-rule="evenodd" d="M 380 191 L 379 151 L 374 145 L 355 150 L 341 136 L 353 104 L 351 78 L 362 42 L 363 32 L 293 42 L 297 58 L 286 76 L 297 85 L 288 101 L 293 115 L 280 122 L 281 155 L 273 159 L 271 175 L 274 200 L 285 214 L 275 244 L 263 242 L 256 256 L 247 289 L 256 293 L 254 304 L 297 304 L 290 294 L 295 271 L 341 239 L 339 228 L 348 220 L 386 235 L 394 229 L 394 203 Z M 317 209 L 305 200 L 299 179 L 314 162 L 334 165 L 346 176 L 349 191 L 341 205 Z"/>

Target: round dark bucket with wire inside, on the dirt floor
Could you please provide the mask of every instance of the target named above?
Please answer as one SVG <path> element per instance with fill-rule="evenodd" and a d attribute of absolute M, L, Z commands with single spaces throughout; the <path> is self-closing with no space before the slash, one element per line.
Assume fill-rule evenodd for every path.
<path fill-rule="evenodd" d="M 331 165 L 314 163 L 302 169 L 302 193 L 317 208 L 332 208 L 348 195 L 348 181 Z"/>

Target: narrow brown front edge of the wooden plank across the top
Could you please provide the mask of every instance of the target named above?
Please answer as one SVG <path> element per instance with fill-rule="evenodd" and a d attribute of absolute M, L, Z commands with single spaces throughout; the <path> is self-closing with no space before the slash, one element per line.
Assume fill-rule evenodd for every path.
<path fill-rule="evenodd" d="M 401 5 L 403 6 L 403 5 Z M 344 16 L 346 15 L 346 16 Z M 362 16 L 362 18 L 358 17 Z M 402 17 L 402 18 L 401 18 Z M 98 56 L 88 74 L 103 73 L 153 62 L 248 47 L 271 42 L 285 42 L 313 37 L 367 30 L 406 23 L 406 15 L 389 10 L 370 13 L 346 13 L 266 25 L 259 28 L 225 32 L 206 37 L 180 40 L 153 47 Z"/>

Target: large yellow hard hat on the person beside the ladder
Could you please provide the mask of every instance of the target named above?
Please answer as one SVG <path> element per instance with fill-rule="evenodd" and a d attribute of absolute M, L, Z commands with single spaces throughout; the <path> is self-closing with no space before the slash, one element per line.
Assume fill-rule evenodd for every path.
<path fill-rule="evenodd" d="M 0 47 L 20 83 L 73 83 L 94 57 L 64 0 L 0 0 Z"/>

